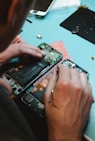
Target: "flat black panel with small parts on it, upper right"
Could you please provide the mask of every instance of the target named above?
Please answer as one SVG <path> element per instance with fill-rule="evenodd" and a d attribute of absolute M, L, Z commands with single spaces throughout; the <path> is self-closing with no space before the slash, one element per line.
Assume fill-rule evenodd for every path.
<path fill-rule="evenodd" d="M 80 7 L 60 26 L 95 44 L 95 12 L 87 7 Z"/>

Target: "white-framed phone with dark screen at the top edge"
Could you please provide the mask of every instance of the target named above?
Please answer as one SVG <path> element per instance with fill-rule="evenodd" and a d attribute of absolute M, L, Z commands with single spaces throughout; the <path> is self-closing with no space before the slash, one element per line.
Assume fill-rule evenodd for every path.
<path fill-rule="evenodd" d="M 37 0 L 34 8 L 30 10 L 29 14 L 38 16 L 45 16 L 50 10 L 55 0 Z"/>

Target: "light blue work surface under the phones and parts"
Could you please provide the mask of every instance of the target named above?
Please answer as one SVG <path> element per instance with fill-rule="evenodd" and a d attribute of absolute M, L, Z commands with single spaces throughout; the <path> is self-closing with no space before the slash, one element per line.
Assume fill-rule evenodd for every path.
<path fill-rule="evenodd" d="M 86 5 L 95 11 L 95 0 L 82 0 L 81 5 Z M 89 72 L 89 81 L 95 98 L 95 44 L 60 26 L 60 23 L 76 10 L 77 7 L 51 10 L 44 18 L 28 16 L 27 18 L 32 23 L 25 21 L 22 27 L 23 32 L 20 35 L 33 46 L 38 46 L 42 42 L 51 44 L 61 40 L 73 61 Z M 37 38 L 38 35 L 41 35 L 42 38 Z M 90 111 L 85 135 L 95 141 L 95 104 L 92 105 Z"/>

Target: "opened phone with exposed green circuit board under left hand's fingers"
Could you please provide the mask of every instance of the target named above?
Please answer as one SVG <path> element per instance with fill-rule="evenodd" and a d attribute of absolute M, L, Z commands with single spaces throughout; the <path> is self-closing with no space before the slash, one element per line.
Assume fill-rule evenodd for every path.
<path fill-rule="evenodd" d="M 63 58 L 60 52 L 46 43 L 41 43 L 38 48 L 46 53 L 43 58 L 29 58 L 2 74 L 1 77 L 10 84 L 13 94 L 21 94 Z"/>

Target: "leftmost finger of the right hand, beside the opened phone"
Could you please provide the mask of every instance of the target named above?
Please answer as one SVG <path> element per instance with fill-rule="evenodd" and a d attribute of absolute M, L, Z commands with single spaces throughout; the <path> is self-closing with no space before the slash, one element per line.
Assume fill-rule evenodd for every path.
<path fill-rule="evenodd" d="M 56 69 L 54 70 L 52 76 L 50 77 L 49 79 L 49 82 L 48 82 L 48 86 L 47 86 L 47 89 L 46 89 L 46 92 L 45 92 L 45 102 L 50 102 L 51 101 L 51 98 L 52 98 L 52 90 L 55 89 L 55 86 L 56 86 L 56 81 L 57 81 L 57 71 Z"/>

